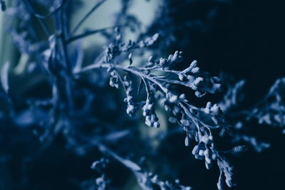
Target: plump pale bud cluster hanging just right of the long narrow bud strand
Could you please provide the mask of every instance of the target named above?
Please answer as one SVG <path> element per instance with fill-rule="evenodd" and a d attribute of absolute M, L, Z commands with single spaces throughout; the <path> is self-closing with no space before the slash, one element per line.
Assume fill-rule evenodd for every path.
<path fill-rule="evenodd" d="M 155 104 L 151 100 L 151 96 L 147 97 L 145 105 L 142 107 L 142 115 L 145 116 L 145 125 L 150 127 L 160 127 L 158 117 L 155 114 Z"/>

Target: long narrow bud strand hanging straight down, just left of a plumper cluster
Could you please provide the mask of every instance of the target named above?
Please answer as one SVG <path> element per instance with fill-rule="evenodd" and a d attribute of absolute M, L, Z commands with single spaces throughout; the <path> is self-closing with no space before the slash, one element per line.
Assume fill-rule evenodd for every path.
<path fill-rule="evenodd" d="M 128 103 L 127 107 L 127 113 L 131 117 L 135 115 L 135 112 L 137 112 L 138 107 L 135 105 L 135 102 L 133 101 L 133 88 L 132 88 L 132 80 L 128 78 L 127 75 L 124 76 L 123 85 L 125 86 L 125 93 L 127 97 L 125 97 L 124 101 Z"/>

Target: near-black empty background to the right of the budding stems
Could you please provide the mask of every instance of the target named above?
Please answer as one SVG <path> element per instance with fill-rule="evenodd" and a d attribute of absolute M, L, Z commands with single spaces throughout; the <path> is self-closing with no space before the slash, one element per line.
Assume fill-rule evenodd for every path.
<path fill-rule="evenodd" d="M 223 71 L 237 80 L 245 79 L 245 99 L 240 106 L 250 107 L 277 78 L 284 77 L 284 5 L 284 1 L 231 1 L 219 6 L 209 30 L 192 30 L 189 38 L 177 32 L 177 41 L 186 41 L 183 51 L 210 73 Z M 199 15 L 207 5 L 196 7 L 181 7 L 175 18 Z M 234 189 L 284 189 L 284 134 L 257 122 L 249 127 L 252 134 L 271 142 L 271 148 L 261 154 L 249 151 L 237 159 Z M 197 184 L 214 189 L 204 182 L 205 176 L 199 177 Z"/>

